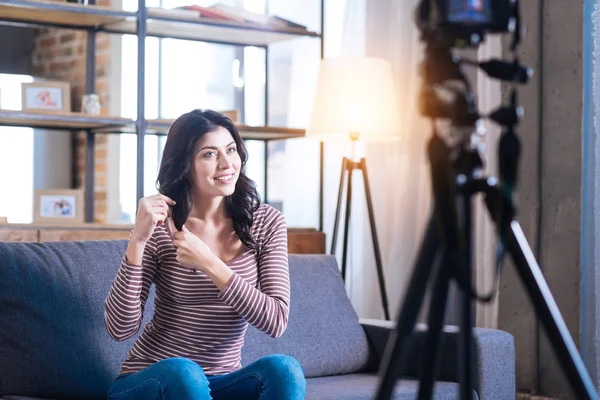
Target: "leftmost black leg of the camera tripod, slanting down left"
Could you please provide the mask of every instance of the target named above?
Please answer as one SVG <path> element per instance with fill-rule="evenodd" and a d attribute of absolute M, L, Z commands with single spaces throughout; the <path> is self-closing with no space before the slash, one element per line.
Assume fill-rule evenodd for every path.
<path fill-rule="evenodd" d="M 375 395 L 376 400 L 389 400 L 392 397 L 396 380 L 404 371 L 407 340 L 414 330 L 419 311 L 423 305 L 427 282 L 433 269 L 441 242 L 437 221 L 432 216 L 427 224 L 425 236 L 413 267 L 410 281 L 396 319 L 396 327 L 390 333 L 386 350 L 380 365 L 380 381 Z"/>

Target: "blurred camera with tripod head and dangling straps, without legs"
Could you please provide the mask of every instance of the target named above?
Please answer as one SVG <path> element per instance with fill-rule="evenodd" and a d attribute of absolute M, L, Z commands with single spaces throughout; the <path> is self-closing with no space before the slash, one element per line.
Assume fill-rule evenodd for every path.
<path fill-rule="evenodd" d="M 533 75 L 516 55 L 512 61 L 478 62 L 452 53 L 453 48 L 479 46 L 487 34 L 501 33 L 513 34 L 514 52 L 521 39 L 517 0 L 422 0 L 415 10 L 415 22 L 426 44 L 419 98 L 420 112 L 425 117 L 449 119 L 457 128 L 474 126 L 482 117 L 471 84 L 460 69 L 463 64 L 481 68 L 490 78 L 516 84 L 527 83 Z M 449 82 L 461 85 L 445 85 Z M 516 92 L 514 97 L 509 105 L 486 117 L 512 129 L 523 115 L 516 104 Z"/>

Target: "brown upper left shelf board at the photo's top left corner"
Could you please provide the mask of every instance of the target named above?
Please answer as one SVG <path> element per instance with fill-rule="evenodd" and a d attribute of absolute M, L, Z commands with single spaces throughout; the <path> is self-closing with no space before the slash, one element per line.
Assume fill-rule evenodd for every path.
<path fill-rule="evenodd" d="M 49 0 L 2 0 L 0 20 L 36 26 L 93 28 L 135 18 L 135 13 L 103 6 Z M 135 21 L 134 21 L 135 22 Z"/>

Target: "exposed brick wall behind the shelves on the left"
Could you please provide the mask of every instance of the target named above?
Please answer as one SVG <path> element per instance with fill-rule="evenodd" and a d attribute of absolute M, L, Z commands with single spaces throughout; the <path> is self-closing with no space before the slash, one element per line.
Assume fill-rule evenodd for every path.
<path fill-rule="evenodd" d="M 110 5 L 110 0 L 99 0 L 99 5 Z M 33 65 L 38 77 L 67 81 L 71 84 L 71 107 L 81 110 L 81 96 L 86 93 L 87 33 L 78 30 L 40 29 L 35 39 Z M 102 113 L 110 102 L 109 69 L 110 40 L 106 34 L 96 34 L 96 94 L 100 97 Z M 85 133 L 78 133 L 75 141 L 74 170 L 77 188 L 85 184 Z M 106 222 L 107 208 L 107 137 L 95 136 L 95 222 Z"/>

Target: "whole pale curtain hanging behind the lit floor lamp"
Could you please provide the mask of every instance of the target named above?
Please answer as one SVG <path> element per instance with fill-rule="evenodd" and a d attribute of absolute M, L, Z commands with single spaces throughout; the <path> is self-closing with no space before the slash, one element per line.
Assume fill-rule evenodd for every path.
<path fill-rule="evenodd" d="M 356 158 L 364 156 L 367 160 L 389 311 L 393 318 L 412 270 L 412 261 L 430 207 L 429 169 L 425 157 L 429 131 L 426 121 L 420 118 L 416 109 L 419 84 L 417 68 L 422 51 L 412 20 L 409 21 L 412 18 L 414 0 L 346 0 L 345 3 L 340 40 L 326 45 L 326 57 L 367 55 L 389 60 L 395 71 L 400 102 L 398 112 L 403 126 L 403 140 L 396 143 L 361 144 L 356 152 Z M 328 30 L 328 34 L 331 33 Z M 380 36 L 377 49 L 371 45 L 374 34 Z M 350 146 L 326 145 L 325 149 L 324 223 L 330 245 L 341 158 L 350 155 Z M 383 318 L 360 172 L 356 172 L 353 177 L 352 197 L 346 278 L 348 294 L 360 317 Z M 345 198 L 342 200 L 336 252 L 340 263 Z"/>

